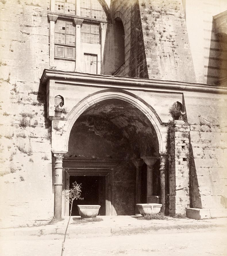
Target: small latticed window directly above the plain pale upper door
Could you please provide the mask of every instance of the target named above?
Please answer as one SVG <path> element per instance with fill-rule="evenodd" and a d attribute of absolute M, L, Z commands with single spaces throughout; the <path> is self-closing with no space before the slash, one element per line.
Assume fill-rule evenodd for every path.
<path fill-rule="evenodd" d="M 84 43 L 100 43 L 99 25 L 83 23 L 80 31 L 80 41 Z"/>

